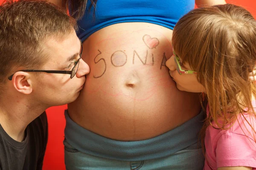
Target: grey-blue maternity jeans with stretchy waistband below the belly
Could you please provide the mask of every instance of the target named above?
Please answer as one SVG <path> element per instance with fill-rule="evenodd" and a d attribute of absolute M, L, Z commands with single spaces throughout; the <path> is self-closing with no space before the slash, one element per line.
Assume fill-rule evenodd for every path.
<path fill-rule="evenodd" d="M 73 122 L 67 111 L 67 170 L 202 170 L 204 156 L 198 133 L 205 113 L 160 136 L 122 142 L 99 136 Z"/>

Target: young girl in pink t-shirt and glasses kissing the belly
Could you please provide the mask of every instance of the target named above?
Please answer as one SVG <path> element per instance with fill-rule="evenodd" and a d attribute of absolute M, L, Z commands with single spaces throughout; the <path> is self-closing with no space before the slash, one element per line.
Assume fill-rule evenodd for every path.
<path fill-rule="evenodd" d="M 166 66 L 177 88 L 208 102 L 204 170 L 256 170 L 253 16 L 231 4 L 194 9 L 177 22 L 172 43 Z"/>

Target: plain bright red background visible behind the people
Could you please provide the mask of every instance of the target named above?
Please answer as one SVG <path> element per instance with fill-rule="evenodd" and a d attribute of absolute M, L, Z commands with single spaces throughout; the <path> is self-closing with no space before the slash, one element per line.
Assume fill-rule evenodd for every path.
<path fill-rule="evenodd" d="M 0 0 L 0 3 L 2 2 L 3 0 Z M 243 6 L 256 17 L 255 0 L 226 0 L 226 2 Z M 67 105 L 62 105 L 47 109 L 49 137 L 43 170 L 65 170 L 64 145 L 62 141 L 64 139 L 64 110 L 66 108 Z"/>

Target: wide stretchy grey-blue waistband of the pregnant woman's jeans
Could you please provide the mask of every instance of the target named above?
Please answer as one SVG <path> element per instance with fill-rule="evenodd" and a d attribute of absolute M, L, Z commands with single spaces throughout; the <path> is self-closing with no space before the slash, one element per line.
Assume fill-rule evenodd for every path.
<path fill-rule="evenodd" d="M 160 136 L 141 141 L 116 141 L 93 133 L 70 119 L 65 111 L 65 138 L 77 150 L 107 159 L 141 161 L 162 158 L 198 142 L 204 111 Z"/>

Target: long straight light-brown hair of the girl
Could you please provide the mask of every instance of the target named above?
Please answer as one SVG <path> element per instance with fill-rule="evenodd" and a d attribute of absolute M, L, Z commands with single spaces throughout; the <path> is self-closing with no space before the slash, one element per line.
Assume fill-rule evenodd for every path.
<path fill-rule="evenodd" d="M 255 117 L 256 88 L 248 74 L 256 64 L 256 21 L 250 12 L 232 4 L 194 9 L 178 21 L 172 43 L 206 89 L 209 116 L 201 130 L 203 146 L 213 121 L 217 128 L 228 129 L 244 113 Z"/>

